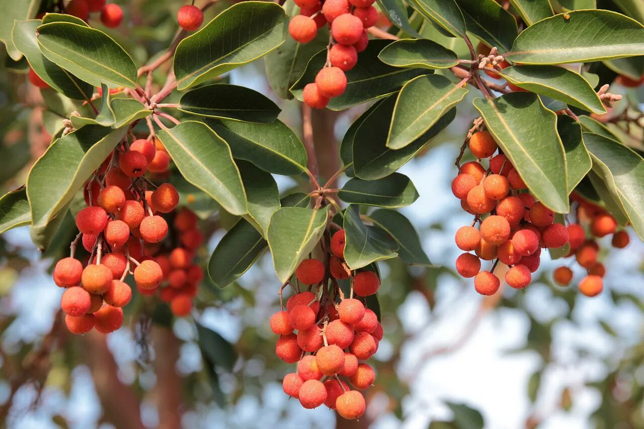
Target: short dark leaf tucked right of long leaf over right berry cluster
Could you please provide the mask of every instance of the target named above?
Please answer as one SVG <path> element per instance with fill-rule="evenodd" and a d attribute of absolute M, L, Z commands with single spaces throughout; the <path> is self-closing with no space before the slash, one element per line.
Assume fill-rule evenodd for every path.
<path fill-rule="evenodd" d="M 567 115 L 557 117 L 557 132 L 565 150 L 568 193 L 591 171 L 592 161 L 583 144 L 582 126 Z"/>

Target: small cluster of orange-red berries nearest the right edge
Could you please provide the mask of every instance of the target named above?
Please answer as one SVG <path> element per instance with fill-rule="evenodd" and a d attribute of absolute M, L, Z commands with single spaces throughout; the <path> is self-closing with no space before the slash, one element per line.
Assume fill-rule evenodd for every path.
<path fill-rule="evenodd" d="M 598 261 L 600 245 L 595 238 L 602 238 L 612 234 L 612 247 L 623 249 L 629 245 L 629 233 L 624 230 L 617 230 L 617 221 L 611 214 L 606 213 L 598 205 L 592 204 L 573 194 L 573 202 L 577 202 L 578 223 L 568 225 L 570 236 L 570 253 L 566 258 L 574 259 L 586 270 L 587 275 L 579 282 L 579 291 L 586 296 L 596 296 L 603 289 L 603 276 L 606 268 Z M 589 229 L 592 238 L 588 239 L 584 227 Z M 573 270 L 569 267 L 558 267 L 553 272 L 556 283 L 567 286 L 573 280 Z"/>

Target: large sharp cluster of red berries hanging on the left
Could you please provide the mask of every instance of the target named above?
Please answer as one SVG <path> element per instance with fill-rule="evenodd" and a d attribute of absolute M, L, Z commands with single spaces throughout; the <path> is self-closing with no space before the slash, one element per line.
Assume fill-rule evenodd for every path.
<path fill-rule="evenodd" d="M 144 243 L 154 245 L 166 238 L 166 219 L 156 213 L 173 211 L 179 195 L 168 183 L 147 190 L 151 182 L 143 176 L 158 152 L 150 140 L 138 139 L 129 146 L 124 142 L 84 187 L 87 207 L 76 216 L 79 236 L 72 243 L 71 256 L 60 260 L 53 271 L 55 283 L 66 288 L 61 307 L 68 329 L 75 334 L 92 328 L 107 333 L 122 325 L 122 307 L 132 296 L 124 282 L 130 263 L 136 265 L 133 275 L 139 291 L 155 290 L 164 280 L 161 265 L 144 256 Z M 90 252 L 86 267 L 73 257 L 79 241 Z M 187 267 L 191 259 L 184 258 L 187 262 L 171 265 Z"/>

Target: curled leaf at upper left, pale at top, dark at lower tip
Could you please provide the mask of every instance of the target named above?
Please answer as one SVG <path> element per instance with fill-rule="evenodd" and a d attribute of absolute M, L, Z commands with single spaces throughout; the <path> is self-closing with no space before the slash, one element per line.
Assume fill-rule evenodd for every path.
<path fill-rule="evenodd" d="M 54 90 L 73 100 L 90 99 L 93 86 L 60 68 L 41 53 L 36 40 L 36 28 L 40 24 L 39 19 L 16 21 L 12 32 L 15 48 L 24 54 L 33 71 Z"/>

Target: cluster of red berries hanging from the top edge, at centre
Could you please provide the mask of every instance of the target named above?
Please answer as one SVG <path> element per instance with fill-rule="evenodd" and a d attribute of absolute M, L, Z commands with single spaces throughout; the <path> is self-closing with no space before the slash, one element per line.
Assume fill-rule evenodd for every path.
<path fill-rule="evenodd" d="M 317 73 L 316 81 L 304 87 L 304 102 L 323 109 L 330 99 L 346 90 L 347 70 L 354 68 L 358 52 L 369 43 L 366 29 L 378 21 L 374 0 L 295 0 L 300 14 L 289 23 L 289 33 L 299 43 L 315 39 L 317 29 L 329 25 L 332 41 L 327 64 Z"/>

